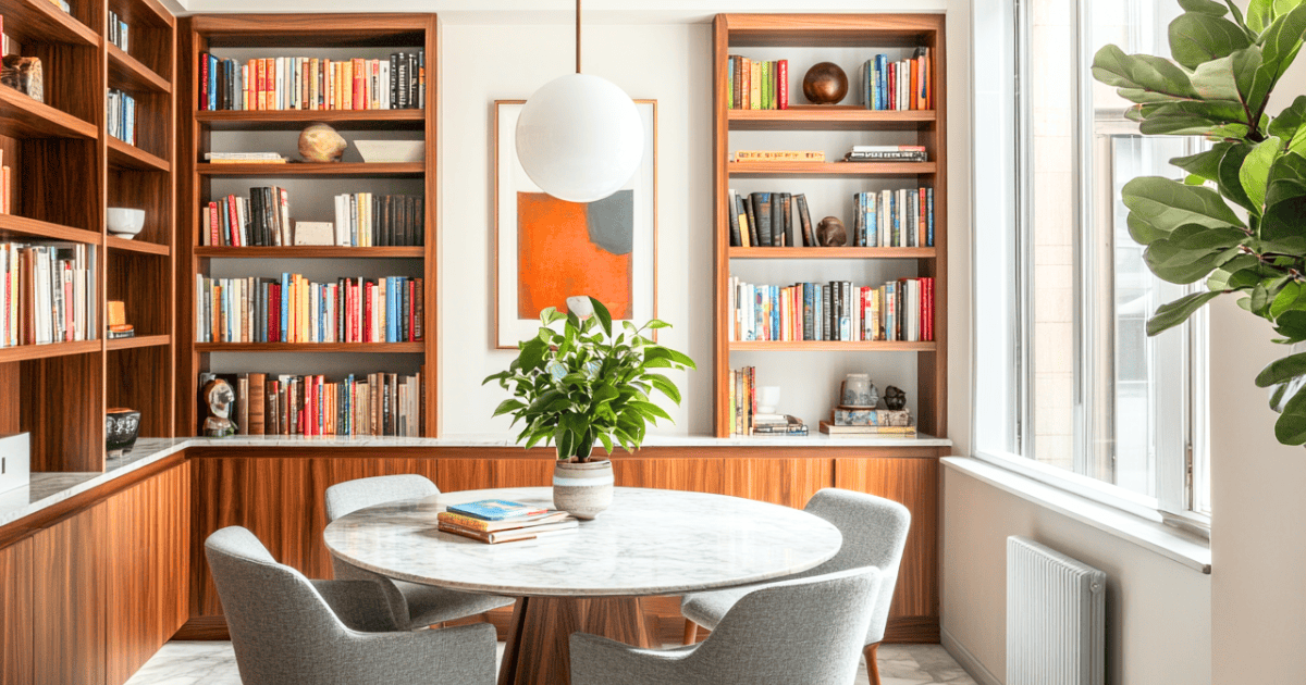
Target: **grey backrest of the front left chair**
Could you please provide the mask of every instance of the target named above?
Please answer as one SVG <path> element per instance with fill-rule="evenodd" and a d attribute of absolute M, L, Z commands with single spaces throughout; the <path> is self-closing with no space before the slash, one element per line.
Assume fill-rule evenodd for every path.
<path fill-rule="evenodd" d="M 304 574 L 277 564 L 248 530 L 215 531 L 204 552 L 247 685 L 274 681 L 263 677 L 268 673 L 311 671 L 319 652 L 306 643 L 345 635 L 345 625 Z"/>

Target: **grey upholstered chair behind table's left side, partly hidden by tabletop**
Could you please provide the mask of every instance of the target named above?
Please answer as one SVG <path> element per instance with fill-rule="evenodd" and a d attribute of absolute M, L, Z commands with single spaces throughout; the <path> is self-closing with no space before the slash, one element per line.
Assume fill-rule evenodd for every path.
<path fill-rule="evenodd" d="M 336 521 L 340 517 L 376 506 L 379 504 L 393 502 L 394 500 L 414 500 L 439 495 L 440 488 L 435 487 L 426 476 L 398 475 L 360 478 L 337 483 L 326 488 L 326 521 Z M 496 595 L 478 595 L 474 592 L 460 592 L 421 583 L 396 581 L 384 575 L 359 569 L 347 561 L 332 557 L 336 579 L 340 581 L 372 581 L 381 586 L 385 600 L 389 601 L 390 611 L 396 620 L 405 628 L 422 628 L 441 624 L 454 618 L 475 616 L 499 607 L 511 607 L 512 598 Z"/>

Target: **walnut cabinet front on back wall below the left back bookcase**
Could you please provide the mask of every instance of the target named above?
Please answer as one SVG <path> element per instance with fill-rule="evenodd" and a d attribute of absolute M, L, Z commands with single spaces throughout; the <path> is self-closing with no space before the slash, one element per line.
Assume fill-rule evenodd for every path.
<path fill-rule="evenodd" d="M 282 564 L 310 578 L 330 578 L 330 553 L 321 539 L 326 527 L 326 488 L 389 474 L 419 474 L 436 480 L 436 461 L 192 459 L 191 617 L 221 613 L 204 557 L 204 540 L 212 532 L 226 526 L 244 526 Z"/>

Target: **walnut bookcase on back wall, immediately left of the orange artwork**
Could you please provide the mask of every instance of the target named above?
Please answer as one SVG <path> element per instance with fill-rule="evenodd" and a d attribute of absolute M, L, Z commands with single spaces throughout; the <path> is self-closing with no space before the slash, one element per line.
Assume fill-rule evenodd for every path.
<path fill-rule="evenodd" d="M 178 369 L 176 388 L 184 399 L 176 418 L 178 434 L 195 434 L 199 374 L 210 371 L 214 352 L 236 354 L 294 354 L 307 355 L 298 363 L 312 365 L 320 355 L 400 354 L 415 356 L 422 371 L 426 399 L 426 434 L 439 434 L 436 425 L 436 145 L 438 145 L 438 84 L 439 22 L 435 14 L 214 14 L 182 20 L 182 82 L 187 85 L 187 104 L 179 115 L 182 153 L 182 181 L 178 193 L 179 226 L 185 227 L 180 243 L 178 288 Z M 422 48 L 426 51 L 426 108 L 423 110 L 282 110 L 282 111 L 201 111 L 197 108 L 200 82 L 196 74 L 200 55 L 212 52 L 219 57 L 225 52 L 256 51 L 257 56 L 313 55 L 315 50 L 334 48 Z M 398 130 L 419 132 L 426 141 L 424 162 L 418 163 L 359 163 L 259 166 L 259 164 L 206 164 L 204 153 L 213 149 L 214 134 L 255 133 L 268 140 L 286 136 L 279 145 L 294 150 L 299 130 L 308 124 L 324 121 L 350 132 Z M 358 179 L 368 183 L 367 189 L 383 192 L 388 179 L 418 180 L 426 194 L 426 236 L 423 247 L 256 247 L 230 248 L 201 245 L 200 206 L 213 198 L 215 180 L 249 179 L 252 184 L 265 184 L 269 179 L 334 181 Z M 377 180 L 381 180 L 377 184 Z M 295 196 L 291 194 L 291 222 L 296 221 Z M 415 343 L 197 343 L 195 279 L 197 274 L 213 273 L 219 260 L 296 260 L 298 269 L 304 260 L 325 260 L 323 265 L 341 264 L 340 260 L 402 260 L 418 264 L 424 279 L 423 341 Z M 343 266 L 342 266 L 343 267 Z M 249 274 L 268 275 L 268 274 Z M 351 275 L 340 273 L 338 275 Z M 370 355 L 368 355 L 370 356 Z M 283 369 L 268 368 L 257 361 L 242 361 L 243 372 L 278 373 Z"/>

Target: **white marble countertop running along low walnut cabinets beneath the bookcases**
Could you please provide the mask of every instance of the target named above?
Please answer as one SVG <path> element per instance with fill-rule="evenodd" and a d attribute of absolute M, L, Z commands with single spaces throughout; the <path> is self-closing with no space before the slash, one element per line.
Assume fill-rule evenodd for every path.
<path fill-rule="evenodd" d="M 24 517 L 31 515 L 42 509 L 52 506 L 60 501 L 74 497 L 86 491 L 94 489 L 116 478 L 129 474 L 137 468 L 163 459 L 187 448 L 513 448 L 511 434 L 505 433 L 465 433 L 448 434 L 443 437 L 379 437 L 379 436 L 232 436 L 225 438 L 205 437 L 142 437 L 136 441 L 136 446 L 124 457 L 108 459 L 104 472 L 34 472 L 31 484 L 0 492 L 0 526 L 5 526 Z M 832 438 L 825 434 L 807 437 L 782 436 L 738 436 L 738 437 L 709 437 L 709 436 L 658 436 L 650 434 L 644 441 L 645 448 L 946 448 L 952 441 L 931 436 L 918 436 L 912 438 L 884 437 L 884 438 Z M 619 451 L 618 454 L 624 454 Z"/>

